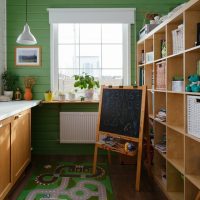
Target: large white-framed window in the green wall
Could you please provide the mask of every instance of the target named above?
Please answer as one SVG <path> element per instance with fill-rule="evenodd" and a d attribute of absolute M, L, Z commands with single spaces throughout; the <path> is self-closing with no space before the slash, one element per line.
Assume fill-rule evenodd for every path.
<path fill-rule="evenodd" d="M 50 12 L 52 90 L 71 90 L 73 75 L 83 72 L 94 76 L 100 84 L 130 84 L 130 24 L 122 23 L 120 20 L 123 17 L 116 19 L 119 13 L 113 13 L 113 23 L 99 19 L 104 13 L 97 17 L 102 23 L 94 23 L 93 18 L 87 18 L 88 12 L 86 18 L 83 12 L 80 17 L 85 22 L 83 23 L 77 17 L 77 13 L 71 17 L 74 11 L 66 17 L 65 10 L 56 14 L 55 10 L 57 9 L 53 9 L 52 15 Z M 119 11 L 123 15 L 121 10 Z M 110 12 L 106 14 L 110 15 Z M 73 23 L 68 22 L 70 17 Z M 119 23 L 116 23 L 116 20 L 119 20 Z"/>

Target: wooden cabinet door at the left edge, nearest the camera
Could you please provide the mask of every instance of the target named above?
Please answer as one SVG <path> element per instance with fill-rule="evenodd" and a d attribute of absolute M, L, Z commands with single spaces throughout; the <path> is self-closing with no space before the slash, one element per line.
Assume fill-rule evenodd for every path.
<path fill-rule="evenodd" d="M 0 199 L 12 186 L 11 177 L 11 121 L 0 121 Z"/>

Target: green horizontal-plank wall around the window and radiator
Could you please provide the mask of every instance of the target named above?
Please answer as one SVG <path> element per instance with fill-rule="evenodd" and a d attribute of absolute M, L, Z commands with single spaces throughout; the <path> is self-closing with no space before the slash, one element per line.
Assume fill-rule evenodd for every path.
<path fill-rule="evenodd" d="M 167 14 L 186 0 L 28 0 L 28 24 L 42 47 L 41 67 L 16 67 L 14 50 L 16 39 L 25 24 L 25 0 L 7 0 L 7 68 L 19 76 L 23 88 L 23 77 L 36 77 L 33 87 L 34 99 L 43 99 L 50 89 L 50 26 L 47 8 L 136 8 L 136 25 L 131 33 L 131 78 L 135 80 L 135 47 L 138 31 L 148 12 Z M 43 105 L 32 111 L 33 153 L 39 154 L 93 154 L 92 145 L 59 144 L 59 111 L 97 111 L 97 105 Z"/>

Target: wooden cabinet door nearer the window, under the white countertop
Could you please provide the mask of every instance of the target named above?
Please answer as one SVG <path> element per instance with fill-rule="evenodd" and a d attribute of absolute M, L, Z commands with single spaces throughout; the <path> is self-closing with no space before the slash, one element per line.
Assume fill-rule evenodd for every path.
<path fill-rule="evenodd" d="M 12 175 L 15 183 L 31 160 L 31 113 L 24 111 L 16 116 L 12 122 L 11 155 Z"/>

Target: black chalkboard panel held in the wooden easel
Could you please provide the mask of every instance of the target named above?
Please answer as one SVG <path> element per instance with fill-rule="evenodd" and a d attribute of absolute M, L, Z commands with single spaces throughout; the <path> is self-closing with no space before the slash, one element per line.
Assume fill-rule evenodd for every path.
<path fill-rule="evenodd" d="M 119 135 L 139 136 L 142 90 L 102 90 L 99 131 Z"/>

